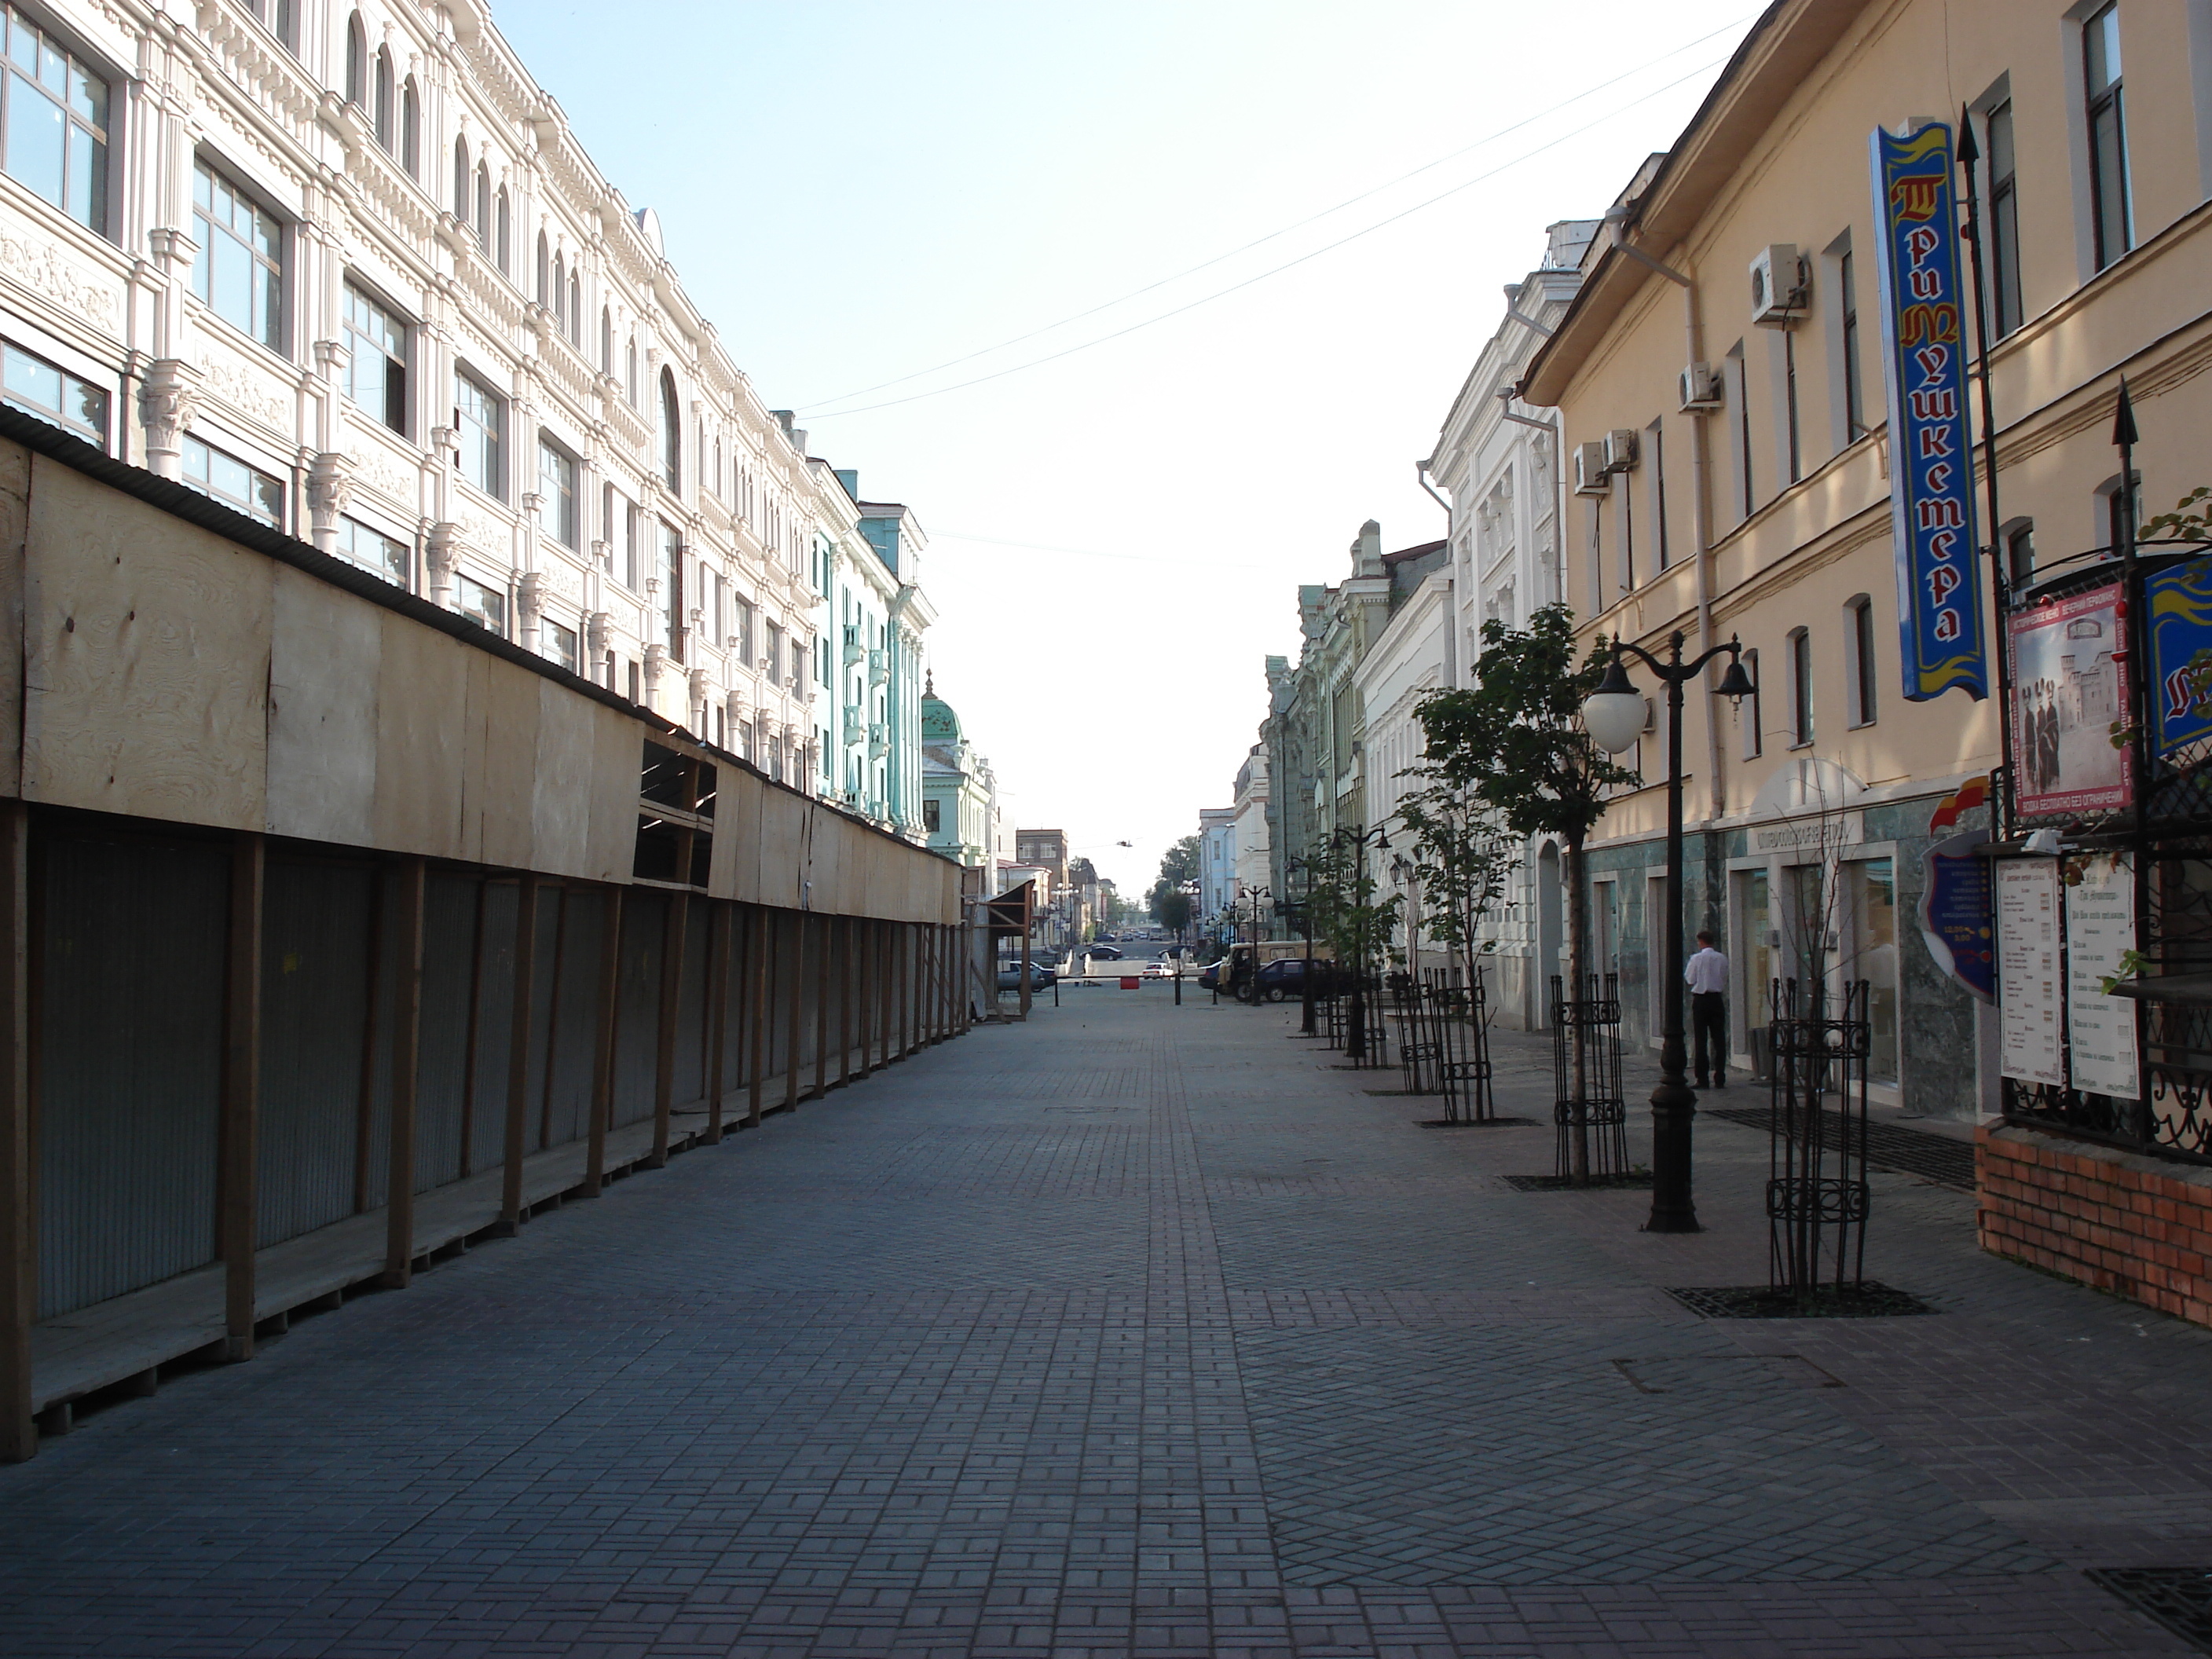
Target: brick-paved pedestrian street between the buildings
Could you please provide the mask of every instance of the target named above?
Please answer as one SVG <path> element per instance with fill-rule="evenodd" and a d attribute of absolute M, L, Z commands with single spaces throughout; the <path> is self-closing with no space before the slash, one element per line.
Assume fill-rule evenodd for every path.
<path fill-rule="evenodd" d="M 2212 1332 L 1905 1175 L 1938 1316 L 1701 1321 L 1761 1133 L 1646 1237 L 1292 1026 L 1068 993 L 93 1413 L 0 1652 L 2190 1652 L 2081 1568 L 2212 1566 Z"/>

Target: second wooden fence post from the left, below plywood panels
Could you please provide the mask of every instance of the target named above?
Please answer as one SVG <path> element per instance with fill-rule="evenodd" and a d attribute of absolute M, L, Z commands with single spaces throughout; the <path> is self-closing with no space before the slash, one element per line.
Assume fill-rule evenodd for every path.
<path fill-rule="evenodd" d="M 261 889 L 265 843 L 230 841 L 230 938 L 223 947 L 223 1106 L 217 1256 L 223 1261 L 223 1358 L 254 1356 L 254 1208 L 261 1175 Z"/>

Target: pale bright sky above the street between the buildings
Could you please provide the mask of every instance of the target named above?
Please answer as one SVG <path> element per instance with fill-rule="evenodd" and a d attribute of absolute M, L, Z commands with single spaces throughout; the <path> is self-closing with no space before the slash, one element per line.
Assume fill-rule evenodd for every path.
<path fill-rule="evenodd" d="M 1756 11 L 493 15 L 761 398 L 914 509 L 936 688 L 1020 827 L 1135 896 L 1230 805 L 1298 584 L 1369 518 L 1444 535 L 1413 462 L 1544 226 L 1672 144 Z"/>

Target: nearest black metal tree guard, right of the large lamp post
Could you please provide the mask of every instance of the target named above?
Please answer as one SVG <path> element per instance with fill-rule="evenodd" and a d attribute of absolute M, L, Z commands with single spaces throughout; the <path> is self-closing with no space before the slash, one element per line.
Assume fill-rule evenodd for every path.
<path fill-rule="evenodd" d="M 1774 980 L 1767 1166 L 1767 1283 L 1809 1307 L 1858 1290 L 1867 1265 L 1867 982 L 1851 980 L 1829 1013 L 1827 991 Z M 1834 1106 L 1829 1106 L 1834 1097 Z"/>

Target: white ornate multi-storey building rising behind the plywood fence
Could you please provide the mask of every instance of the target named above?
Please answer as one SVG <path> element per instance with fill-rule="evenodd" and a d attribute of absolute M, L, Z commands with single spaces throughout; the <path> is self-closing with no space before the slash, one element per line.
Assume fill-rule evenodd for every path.
<path fill-rule="evenodd" d="M 816 785 L 863 513 L 480 0 L 0 11 L 11 405 Z"/>

